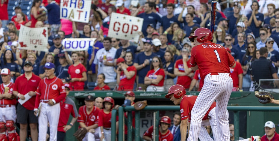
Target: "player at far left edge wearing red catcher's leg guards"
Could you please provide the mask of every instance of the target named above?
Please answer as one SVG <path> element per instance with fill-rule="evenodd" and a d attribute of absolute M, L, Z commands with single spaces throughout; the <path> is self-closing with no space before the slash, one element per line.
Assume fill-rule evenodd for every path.
<path fill-rule="evenodd" d="M 10 82 L 10 70 L 1 70 L 2 84 L 0 86 L 0 140 L 16 141 L 16 97 L 13 96 L 14 83 Z M 6 136 L 8 135 L 8 136 Z"/>

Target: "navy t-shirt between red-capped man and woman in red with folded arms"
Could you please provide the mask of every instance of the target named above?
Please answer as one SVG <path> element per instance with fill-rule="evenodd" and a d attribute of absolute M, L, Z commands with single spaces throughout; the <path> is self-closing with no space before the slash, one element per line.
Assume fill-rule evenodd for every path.
<path fill-rule="evenodd" d="M 144 54 L 144 52 L 140 52 L 139 54 L 137 54 L 136 58 L 134 59 L 134 63 L 138 63 L 139 65 L 143 64 L 145 59 L 150 60 L 149 65 L 146 65 L 142 69 L 137 70 L 137 75 L 139 76 L 139 83 L 140 84 L 144 83 L 144 77 L 146 76 L 147 72 L 150 70 L 150 64 L 152 63 L 151 61 L 152 61 L 152 58 L 154 56 L 157 56 L 157 54 L 152 52 L 152 54 L 150 56 L 146 56 Z"/>

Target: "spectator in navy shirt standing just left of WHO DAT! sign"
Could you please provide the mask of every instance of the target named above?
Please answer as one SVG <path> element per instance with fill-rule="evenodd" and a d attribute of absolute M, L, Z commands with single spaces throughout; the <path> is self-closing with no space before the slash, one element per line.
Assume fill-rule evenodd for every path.
<path fill-rule="evenodd" d="M 60 27 L 60 7 L 56 4 L 55 0 L 48 0 L 46 6 L 48 10 L 48 23 L 51 25 L 51 34 L 57 34 Z"/>

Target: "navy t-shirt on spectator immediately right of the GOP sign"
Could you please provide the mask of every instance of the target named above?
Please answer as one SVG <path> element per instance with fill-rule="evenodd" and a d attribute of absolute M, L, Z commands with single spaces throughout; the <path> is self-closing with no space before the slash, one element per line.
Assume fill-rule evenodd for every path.
<path fill-rule="evenodd" d="M 146 25 L 148 25 L 148 24 L 156 25 L 157 22 L 161 23 L 161 17 L 154 12 L 152 12 L 150 14 L 140 13 L 139 15 L 137 15 L 137 17 L 143 18 L 142 33 L 144 36 L 147 36 L 147 32 L 146 32 L 147 26 Z"/>

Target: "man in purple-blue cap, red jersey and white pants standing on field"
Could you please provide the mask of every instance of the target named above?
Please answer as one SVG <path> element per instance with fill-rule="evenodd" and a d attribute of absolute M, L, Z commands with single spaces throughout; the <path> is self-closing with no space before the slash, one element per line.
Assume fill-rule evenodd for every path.
<path fill-rule="evenodd" d="M 46 133 L 50 129 L 50 141 L 57 140 L 57 126 L 60 115 L 60 101 L 66 97 L 65 86 L 61 79 L 54 75 L 54 64 L 47 62 L 44 66 L 46 78 L 42 79 L 36 91 L 34 115 L 37 115 L 39 104 L 39 141 L 46 140 Z"/>

